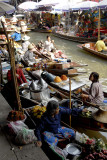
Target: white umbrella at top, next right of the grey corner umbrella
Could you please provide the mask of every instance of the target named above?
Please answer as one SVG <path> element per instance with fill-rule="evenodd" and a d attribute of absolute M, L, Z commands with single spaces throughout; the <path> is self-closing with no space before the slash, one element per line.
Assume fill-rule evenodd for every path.
<path fill-rule="evenodd" d="M 35 11 L 38 8 L 38 3 L 33 1 L 27 1 L 27 2 L 21 3 L 18 6 L 18 8 L 24 11 Z"/>

